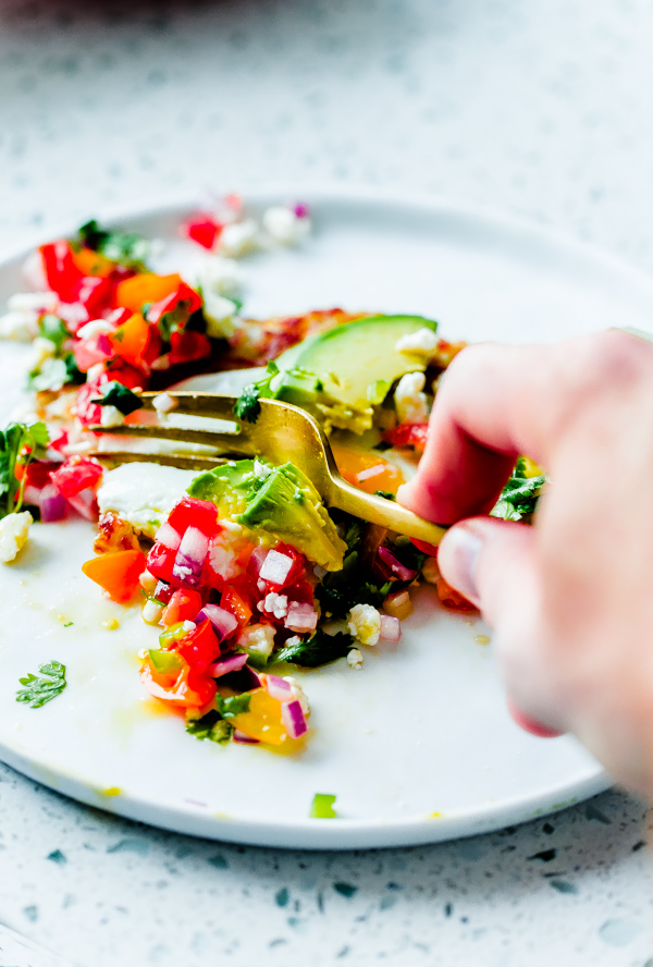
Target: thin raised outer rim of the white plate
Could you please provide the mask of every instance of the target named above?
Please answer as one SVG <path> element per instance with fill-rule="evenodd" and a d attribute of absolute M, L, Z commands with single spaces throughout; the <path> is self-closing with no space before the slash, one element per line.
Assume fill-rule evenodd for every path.
<path fill-rule="evenodd" d="M 292 186 L 284 183 L 250 185 L 244 186 L 239 194 L 246 204 L 255 205 L 274 198 L 279 200 L 306 198 L 309 205 L 364 203 L 369 206 L 410 209 L 414 212 L 481 222 L 484 228 L 504 233 L 508 231 L 513 237 L 521 235 L 525 240 L 547 246 L 560 255 L 566 254 L 581 259 L 593 267 L 603 266 L 612 272 L 617 272 L 625 281 L 649 290 L 653 296 L 653 276 L 620 256 L 546 223 L 533 222 L 513 212 L 470 200 L 422 192 L 387 192 L 366 185 L 323 183 L 317 185 L 303 183 Z M 143 205 L 107 206 L 100 203 L 96 217 L 111 227 L 121 222 L 161 216 L 182 217 L 184 213 L 200 210 L 201 207 L 201 200 L 198 201 L 197 195 L 184 193 L 171 197 L 170 193 L 164 193 L 160 198 L 151 198 Z M 74 228 L 67 222 L 57 232 L 50 231 L 48 235 L 51 238 L 65 237 L 72 231 Z M 27 236 L 27 242 L 22 244 L 20 250 L 0 249 L 0 269 L 11 269 L 16 264 L 20 265 L 20 261 L 36 246 L 44 244 L 42 238 L 42 229 L 35 230 L 32 237 Z M 20 748 L 4 742 L 0 742 L 0 758 L 11 768 L 59 794 L 127 819 L 189 835 L 291 849 L 393 848 L 473 836 L 551 815 L 583 801 L 613 785 L 612 779 L 600 763 L 596 763 L 593 770 L 588 766 L 582 779 L 576 782 L 565 782 L 549 787 L 546 794 L 530 793 L 526 796 L 513 796 L 504 799 L 498 810 L 492 804 L 485 803 L 480 807 L 468 807 L 438 818 L 418 813 L 389 820 L 336 819 L 333 820 L 333 824 L 325 825 L 324 820 L 307 817 L 305 820 L 284 824 L 276 821 L 266 823 L 260 820 L 219 817 L 214 813 L 202 815 L 201 811 L 189 809 L 185 804 L 161 805 L 128 793 L 122 794 L 116 799 L 108 799 L 101 792 L 65 770 L 59 770 L 56 776 L 49 779 L 47 773 L 51 773 L 51 764 L 48 766 L 34 756 L 27 757 Z M 118 805 L 119 800 L 120 809 L 113 808 L 113 804 Z M 174 819 L 171 819 L 172 817 Z"/>

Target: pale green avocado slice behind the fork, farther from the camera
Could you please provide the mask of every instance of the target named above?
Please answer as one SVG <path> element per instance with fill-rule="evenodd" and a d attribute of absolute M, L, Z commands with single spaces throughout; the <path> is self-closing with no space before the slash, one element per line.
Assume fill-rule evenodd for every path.
<path fill-rule="evenodd" d="M 275 362 L 282 371 L 315 374 L 328 393 L 364 408 L 384 383 L 424 369 L 423 359 L 395 348 L 402 336 L 424 328 L 435 331 L 438 323 L 421 316 L 367 316 L 311 336 Z"/>

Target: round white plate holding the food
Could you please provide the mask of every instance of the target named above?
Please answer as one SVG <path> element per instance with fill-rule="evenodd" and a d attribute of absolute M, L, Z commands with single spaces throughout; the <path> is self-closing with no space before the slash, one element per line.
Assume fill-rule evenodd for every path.
<path fill-rule="evenodd" d="M 279 197 L 250 200 L 259 209 Z M 416 313 L 454 339 L 509 341 L 653 318 L 648 279 L 538 229 L 432 200 L 307 200 L 313 237 L 249 264 L 252 315 L 335 305 Z M 178 238 L 185 211 L 122 224 L 167 238 L 158 268 L 173 269 L 199 253 Z M 0 297 L 22 287 L 19 266 L 0 269 Z M 22 356 L 0 346 L 5 409 L 20 396 Z M 512 723 L 491 647 L 475 640 L 485 629 L 444 612 L 428 587 L 394 651 L 367 649 L 359 672 L 341 661 L 301 676 L 312 708 L 301 755 L 198 742 L 145 697 L 136 653 L 156 631 L 81 574 L 91 541 L 82 522 L 36 525 L 0 577 L 0 757 L 54 789 L 180 832 L 341 848 L 470 835 L 608 784 L 572 739 L 537 739 Z M 110 616 L 120 631 L 102 627 Z M 67 689 L 42 709 L 17 705 L 19 677 L 50 659 L 67 665 Z M 337 796 L 337 819 L 308 819 L 318 792 Z"/>

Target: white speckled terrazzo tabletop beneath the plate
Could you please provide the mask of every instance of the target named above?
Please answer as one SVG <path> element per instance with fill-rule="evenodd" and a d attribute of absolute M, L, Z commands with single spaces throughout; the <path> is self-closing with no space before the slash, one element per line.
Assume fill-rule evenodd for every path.
<path fill-rule="evenodd" d="M 0 252 L 109 208 L 268 182 L 418 188 L 653 271 L 638 0 L 0 5 Z M 224 846 L 0 768 L 0 922 L 70 963 L 651 967 L 643 807 L 414 849 Z M 49 967 L 0 931 L 0 967 Z"/>

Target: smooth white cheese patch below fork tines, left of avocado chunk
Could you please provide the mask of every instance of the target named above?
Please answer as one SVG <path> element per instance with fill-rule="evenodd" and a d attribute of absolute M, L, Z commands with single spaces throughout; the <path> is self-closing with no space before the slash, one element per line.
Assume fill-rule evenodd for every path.
<path fill-rule="evenodd" d="M 100 513 L 113 511 L 128 521 L 137 534 L 153 540 L 196 476 L 195 470 L 153 463 L 123 464 L 106 470 L 98 490 Z"/>

